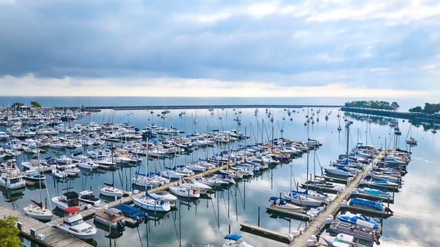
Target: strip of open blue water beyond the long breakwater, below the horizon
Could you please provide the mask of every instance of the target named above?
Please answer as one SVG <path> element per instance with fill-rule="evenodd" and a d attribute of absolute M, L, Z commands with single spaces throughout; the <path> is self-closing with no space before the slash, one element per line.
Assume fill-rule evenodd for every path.
<path fill-rule="evenodd" d="M 11 107 L 14 102 L 30 106 L 37 101 L 42 107 L 112 107 L 112 106 L 158 106 L 170 105 L 220 105 L 220 104 L 308 104 L 343 105 L 354 100 L 384 100 L 398 102 L 400 111 L 424 106 L 426 99 L 399 98 L 363 99 L 362 97 L 28 97 L 0 96 L 0 107 Z"/>

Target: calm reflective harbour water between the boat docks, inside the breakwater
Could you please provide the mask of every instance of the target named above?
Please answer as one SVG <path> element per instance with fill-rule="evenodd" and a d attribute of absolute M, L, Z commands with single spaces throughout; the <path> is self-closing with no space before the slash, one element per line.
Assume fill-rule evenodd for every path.
<path fill-rule="evenodd" d="M 146 102 L 146 104 L 148 103 Z M 188 104 L 191 102 L 188 101 Z M 273 104 L 279 103 L 274 102 Z M 292 102 L 292 104 L 298 103 Z M 338 122 L 343 122 L 342 117 L 338 119 L 336 116 L 338 109 L 323 108 L 319 114 L 317 110 L 300 109 L 299 112 L 292 114 L 292 121 L 290 121 L 290 117 L 283 109 L 268 109 L 268 112 L 273 114 L 273 122 L 270 122 L 266 115 L 266 109 L 258 109 L 257 116 L 254 116 L 255 109 L 235 109 L 235 111 L 233 109 L 215 109 L 213 114 L 210 114 L 207 109 L 191 109 L 184 111 L 186 114 L 182 118 L 178 116 L 182 112 L 179 110 L 171 111 L 167 119 L 157 117 L 159 111 L 150 114 L 149 111 L 108 110 L 94 113 L 81 121 L 129 122 L 138 128 L 143 128 L 148 123 L 154 122 L 158 126 L 174 126 L 184 129 L 185 134 L 192 131 L 204 132 L 207 129 L 215 128 L 220 130 L 238 128 L 239 131 L 246 132 L 246 135 L 251 136 L 251 139 L 246 140 L 246 143 L 266 141 L 272 138 L 272 135 L 275 137 L 283 135 L 285 138 L 295 140 L 307 140 L 310 137 L 323 143 L 323 146 L 316 152 L 312 152 L 309 158 L 310 171 L 313 172 L 315 169 L 316 173 L 319 173 L 320 166 L 328 165 L 340 153 L 345 152 L 346 135 L 345 131 L 337 131 Z M 240 111 L 241 113 L 239 113 Z M 326 113 L 330 114 L 328 121 L 324 120 Z M 319 122 L 304 126 L 307 114 L 309 116 L 315 114 L 315 119 L 319 117 Z M 243 119 L 242 126 L 237 126 L 237 122 L 233 121 L 236 116 Z M 194 119 L 198 120 L 197 125 L 194 125 Z M 390 145 L 390 140 L 393 139 L 393 135 L 388 125 L 351 120 L 353 124 L 349 135 L 350 147 L 357 142 L 367 142 L 376 147 L 392 147 L 393 144 Z M 409 124 L 407 121 L 399 121 L 402 136 L 398 145 L 403 148 L 405 148 L 405 138 L 410 129 Z M 341 125 L 343 126 L 342 123 Z M 367 126 L 368 133 L 366 132 Z M 281 129 L 283 129 L 283 133 L 280 132 Z M 418 140 L 418 145 L 412 147 L 412 161 L 408 165 L 408 174 L 403 178 L 405 181 L 403 189 L 396 194 L 395 203 L 390 206 L 394 215 L 383 222 L 381 246 L 440 246 L 440 238 L 437 236 L 437 233 L 440 232 L 440 222 L 436 220 L 436 215 L 440 213 L 438 206 L 440 203 L 438 197 L 440 189 L 438 179 L 440 175 L 439 134 L 434 135 L 430 131 L 424 131 L 422 127 L 415 126 L 412 126 L 411 133 L 412 137 Z M 246 143 L 234 143 L 228 148 L 234 149 L 238 145 Z M 1 144 L 4 145 L 4 143 Z M 175 160 L 149 161 L 148 169 L 160 169 L 165 164 L 172 164 L 172 162 L 182 164 L 198 157 L 213 155 L 220 150 L 219 147 L 210 147 L 198 150 L 191 155 L 182 155 Z M 49 155 L 54 154 L 44 154 L 43 157 Z M 266 206 L 270 196 L 279 195 L 280 191 L 286 191 L 290 188 L 290 169 L 292 169 L 295 181 L 301 183 L 306 180 L 307 162 L 305 157 L 306 155 L 303 155 L 303 157 L 293 159 L 290 164 L 278 165 L 274 169 L 254 176 L 247 182 L 242 181 L 237 186 L 217 191 L 209 198 L 202 198 L 190 203 L 181 202 L 178 204 L 177 210 L 164 217 L 156 221 L 150 220 L 135 229 L 125 227 L 125 231 L 121 234 L 116 233 L 109 236 L 107 231 L 98 229 L 98 234 L 95 236 L 97 246 L 191 246 L 191 244 L 203 245 L 207 243 L 221 246 L 223 236 L 228 233 L 229 226 L 232 233 L 242 234 L 244 240 L 254 246 L 283 246 L 283 243 L 239 231 L 239 223 L 257 224 L 259 207 L 262 227 L 286 234 L 290 230 L 303 228 L 304 222 L 270 217 L 266 213 Z M 27 160 L 28 157 L 22 155 L 18 159 L 18 163 L 23 159 Z M 113 174 L 115 184 L 127 188 L 126 179 L 129 179 L 137 169 L 144 171 L 145 162 L 140 167 L 115 171 Z M 83 171 L 83 174 L 77 179 L 64 182 L 56 181 L 51 175 L 48 175 L 47 188 L 50 197 L 61 193 L 61 190 L 67 187 L 74 187 L 76 191 L 91 187 L 97 193 L 98 185 L 103 181 L 111 180 L 112 173 L 110 171 L 99 171 L 93 174 Z M 0 203 L 20 209 L 30 202 L 30 198 L 38 197 L 39 191 L 37 189 L 26 188 L 18 197 L 14 195 L 11 198 L 4 193 L 4 196 L 0 197 Z M 43 194 L 43 197 L 47 197 L 47 195 Z M 89 221 L 92 222 L 92 220 Z"/>

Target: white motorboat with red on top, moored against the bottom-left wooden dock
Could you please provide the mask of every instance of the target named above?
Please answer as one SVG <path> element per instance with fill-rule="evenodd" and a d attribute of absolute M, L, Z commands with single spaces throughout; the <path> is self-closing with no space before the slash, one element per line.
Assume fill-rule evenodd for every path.
<path fill-rule="evenodd" d="M 79 207 L 67 207 L 64 209 L 63 221 L 55 225 L 55 227 L 66 234 L 76 236 L 78 239 L 92 239 L 97 229 L 84 222 L 79 210 Z"/>

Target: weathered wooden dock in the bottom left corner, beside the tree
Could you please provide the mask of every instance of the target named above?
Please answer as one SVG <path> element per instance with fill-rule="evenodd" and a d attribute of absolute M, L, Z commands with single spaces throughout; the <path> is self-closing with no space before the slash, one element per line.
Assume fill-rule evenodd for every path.
<path fill-rule="evenodd" d="M 64 234 L 54 227 L 51 227 L 50 224 L 44 224 L 37 219 L 28 217 L 18 210 L 13 210 L 11 207 L 0 205 L 0 217 L 3 218 L 8 215 L 18 217 L 17 221 L 21 223 L 20 234 L 28 239 L 32 239 L 32 241 L 38 243 L 39 246 L 92 247 L 92 245 L 85 243 L 85 241 L 82 241 L 81 239 L 77 239 L 69 234 Z M 31 235 L 30 229 L 35 230 L 35 236 Z M 40 234 L 44 235 L 44 239 L 39 238 Z"/>

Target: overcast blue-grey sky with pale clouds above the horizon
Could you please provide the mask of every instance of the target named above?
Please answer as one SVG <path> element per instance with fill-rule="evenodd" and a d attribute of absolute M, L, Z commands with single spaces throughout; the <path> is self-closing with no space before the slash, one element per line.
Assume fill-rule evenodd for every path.
<path fill-rule="evenodd" d="M 0 0 L 0 95 L 436 99 L 439 30 L 436 0 Z"/>

